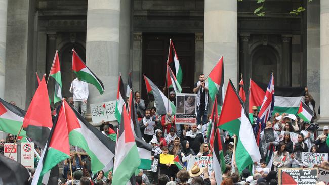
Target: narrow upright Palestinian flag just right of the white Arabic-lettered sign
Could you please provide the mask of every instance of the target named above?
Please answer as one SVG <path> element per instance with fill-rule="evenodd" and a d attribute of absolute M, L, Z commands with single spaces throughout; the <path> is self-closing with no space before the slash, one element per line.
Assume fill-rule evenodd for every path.
<path fill-rule="evenodd" d="M 124 87 L 124 81 L 122 81 L 121 74 L 119 75 L 119 82 L 117 85 L 117 94 L 116 94 L 116 105 L 115 105 L 115 118 L 117 122 L 121 123 L 121 113 L 122 113 L 122 106 L 126 105 L 126 92 Z"/>

